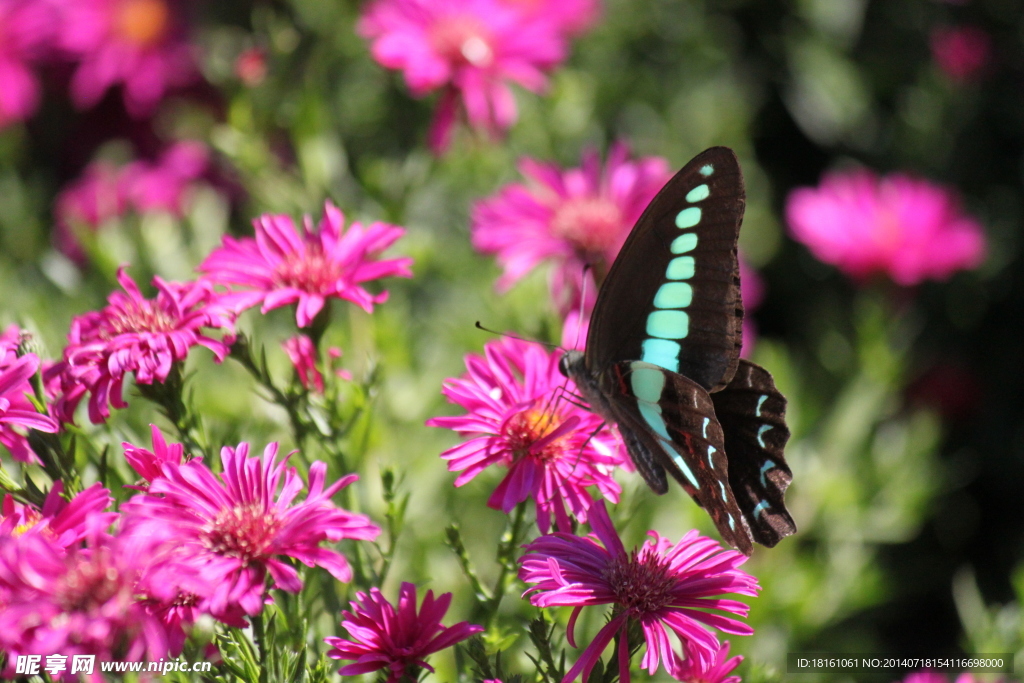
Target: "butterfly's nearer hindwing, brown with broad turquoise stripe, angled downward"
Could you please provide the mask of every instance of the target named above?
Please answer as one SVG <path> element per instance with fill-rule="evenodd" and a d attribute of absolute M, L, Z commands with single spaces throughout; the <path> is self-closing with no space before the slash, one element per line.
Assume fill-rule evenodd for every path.
<path fill-rule="evenodd" d="M 651 488 L 665 493 L 668 470 L 707 510 L 722 538 L 750 555 L 751 530 L 729 483 L 725 435 L 708 392 L 687 377 L 639 360 L 615 364 L 602 379 L 630 457 Z"/>

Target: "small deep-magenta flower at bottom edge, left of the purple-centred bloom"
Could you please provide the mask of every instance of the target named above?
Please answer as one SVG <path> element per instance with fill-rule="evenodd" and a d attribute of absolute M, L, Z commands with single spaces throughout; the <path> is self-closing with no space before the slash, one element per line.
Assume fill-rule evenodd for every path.
<path fill-rule="evenodd" d="M 342 676 L 357 676 L 381 669 L 388 670 L 388 683 L 415 681 L 419 670 L 433 672 L 426 656 L 452 647 L 466 640 L 483 627 L 468 622 L 455 626 L 441 626 L 441 618 L 452 603 L 452 594 L 434 599 L 434 592 L 427 591 L 420 613 L 416 613 L 416 586 L 402 583 L 398 592 L 398 608 L 384 599 L 381 592 L 370 589 L 356 593 L 352 611 L 342 612 L 341 625 L 351 640 L 332 636 L 325 638 L 334 647 L 328 656 L 334 659 L 354 659 L 342 667 Z"/>

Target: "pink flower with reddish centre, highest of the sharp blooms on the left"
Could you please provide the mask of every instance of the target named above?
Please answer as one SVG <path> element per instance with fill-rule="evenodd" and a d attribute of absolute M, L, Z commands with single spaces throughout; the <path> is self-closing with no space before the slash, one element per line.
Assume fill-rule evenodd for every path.
<path fill-rule="evenodd" d="M 372 295 L 362 283 L 413 274 L 411 258 L 378 259 L 404 233 L 402 228 L 352 223 L 343 231 L 345 216 L 330 202 L 316 230 L 309 216 L 301 234 L 290 216 L 264 214 L 253 224 L 255 240 L 224 238 L 199 266 L 213 283 L 243 288 L 234 295 L 240 310 L 262 302 L 265 313 L 296 303 L 295 321 L 305 328 L 329 298 L 347 299 L 372 312 L 375 303 L 387 300 L 387 292 Z"/>

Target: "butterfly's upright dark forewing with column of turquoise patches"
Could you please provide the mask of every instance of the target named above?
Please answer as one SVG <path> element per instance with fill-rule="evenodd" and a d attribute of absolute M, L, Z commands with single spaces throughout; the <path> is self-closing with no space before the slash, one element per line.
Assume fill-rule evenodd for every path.
<path fill-rule="evenodd" d="M 640 359 L 709 391 L 728 384 L 742 336 L 743 203 L 739 163 L 727 147 L 697 155 L 662 188 L 598 295 L 587 338 L 591 369 Z"/>

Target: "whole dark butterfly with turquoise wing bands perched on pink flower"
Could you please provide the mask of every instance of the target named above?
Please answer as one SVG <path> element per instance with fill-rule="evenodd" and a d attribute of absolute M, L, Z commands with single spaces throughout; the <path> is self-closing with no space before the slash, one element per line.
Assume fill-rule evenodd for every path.
<path fill-rule="evenodd" d="M 644 210 L 598 293 L 586 351 L 562 374 L 614 423 L 656 494 L 666 472 L 750 555 L 796 532 L 785 509 L 785 397 L 739 357 L 736 242 L 743 177 L 735 154 L 694 157 Z"/>

